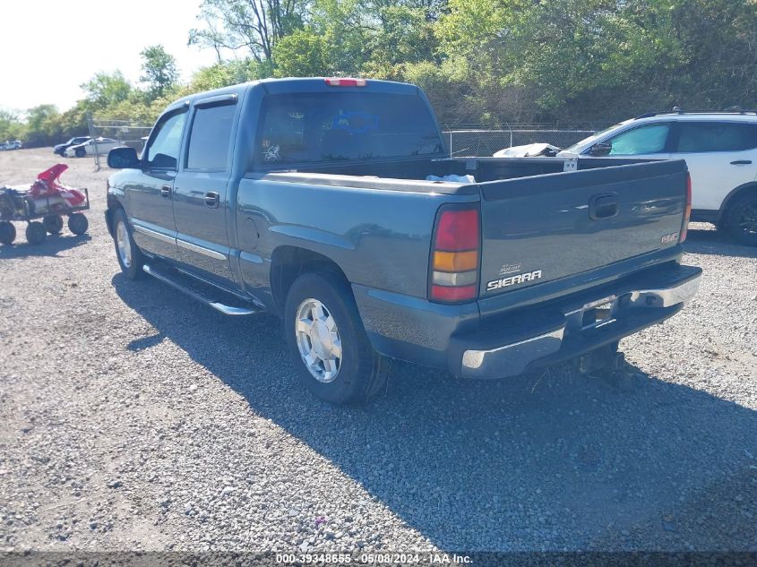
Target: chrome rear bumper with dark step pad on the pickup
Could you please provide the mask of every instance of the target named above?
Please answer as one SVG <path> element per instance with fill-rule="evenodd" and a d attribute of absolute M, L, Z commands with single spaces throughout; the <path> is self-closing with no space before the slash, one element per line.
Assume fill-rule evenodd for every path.
<path fill-rule="evenodd" d="M 452 336 L 450 370 L 503 378 L 581 356 L 672 317 L 692 299 L 700 278 L 701 268 L 668 264 L 619 285 L 505 314 Z M 598 305 L 606 318 L 597 321 Z"/>

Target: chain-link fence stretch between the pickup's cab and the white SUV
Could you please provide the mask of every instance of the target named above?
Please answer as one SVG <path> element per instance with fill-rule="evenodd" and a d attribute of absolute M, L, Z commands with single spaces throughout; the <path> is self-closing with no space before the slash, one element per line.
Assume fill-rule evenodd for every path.
<path fill-rule="evenodd" d="M 593 130 L 550 130 L 526 128 L 517 130 L 447 130 L 444 141 L 452 157 L 484 157 L 495 151 L 529 143 L 550 143 L 567 148 L 593 134 Z"/>

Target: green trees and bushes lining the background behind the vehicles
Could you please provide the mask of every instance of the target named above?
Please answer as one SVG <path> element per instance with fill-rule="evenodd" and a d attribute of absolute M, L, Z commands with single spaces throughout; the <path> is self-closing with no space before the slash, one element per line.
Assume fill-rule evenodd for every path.
<path fill-rule="evenodd" d="M 146 47 L 146 88 L 97 73 L 62 114 L 0 112 L 0 140 L 84 133 L 88 112 L 151 123 L 179 97 L 270 76 L 413 82 L 452 126 L 757 107 L 755 0 L 202 0 L 198 19 L 189 41 L 218 63 L 188 84 Z"/>

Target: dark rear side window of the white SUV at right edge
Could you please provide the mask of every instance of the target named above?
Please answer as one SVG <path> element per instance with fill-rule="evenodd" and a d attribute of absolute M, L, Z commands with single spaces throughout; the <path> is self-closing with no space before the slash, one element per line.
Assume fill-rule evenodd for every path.
<path fill-rule="evenodd" d="M 727 122 L 679 122 L 681 153 L 742 151 L 757 148 L 757 125 Z"/>

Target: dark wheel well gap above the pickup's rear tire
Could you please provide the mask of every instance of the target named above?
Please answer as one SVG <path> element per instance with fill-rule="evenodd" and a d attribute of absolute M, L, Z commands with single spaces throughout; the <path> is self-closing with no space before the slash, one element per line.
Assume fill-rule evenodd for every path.
<path fill-rule="evenodd" d="M 284 311 L 289 288 L 295 279 L 305 272 L 327 271 L 348 281 L 336 262 L 323 254 L 298 248 L 297 246 L 280 246 L 271 257 L 271 293 L 280 313 Z"/>

